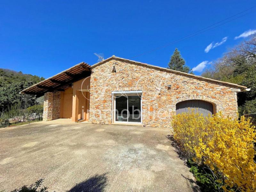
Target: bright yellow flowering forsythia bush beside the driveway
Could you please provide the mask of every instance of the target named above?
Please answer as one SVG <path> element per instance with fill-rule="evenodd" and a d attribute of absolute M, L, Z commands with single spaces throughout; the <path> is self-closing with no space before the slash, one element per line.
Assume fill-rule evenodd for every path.
<path fill-rule="evenodd" d="M 207 167 L 225 191 L 256 191 L 255 127 L 244 116 L 223 118 L 182 113 L 173 118 L 173 138 L 184 156 Z"/>

